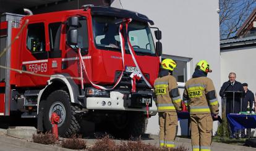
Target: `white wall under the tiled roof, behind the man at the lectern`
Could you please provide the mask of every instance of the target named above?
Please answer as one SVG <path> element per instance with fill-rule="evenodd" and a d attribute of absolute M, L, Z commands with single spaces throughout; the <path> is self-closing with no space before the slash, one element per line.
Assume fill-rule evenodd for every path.
<path fill-rule="evenodd" d="M 255 56 L 256 46 L 221 51 L 221 84 L 228 81 L 228 74 L 232 71 L 236 73 L 236 80 L 248 83 L 248 89 L 255 94 Z M 252 129 L 251 136 L 256 136 L 255 129 Z"/>

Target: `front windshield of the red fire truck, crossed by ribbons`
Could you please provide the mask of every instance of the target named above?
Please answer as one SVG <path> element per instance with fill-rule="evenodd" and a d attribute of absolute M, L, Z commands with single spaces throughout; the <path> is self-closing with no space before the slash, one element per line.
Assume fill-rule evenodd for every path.
<path fill-rule="evenodd" d="M 116 17 L 93 17 L 93 36 L 95 45 L 98 49 L 110 51 L 121 51 L 119 38 L 119 24 L 115 24 Z M 132 20 L 128 25 L 129 40 L 137 55 L 156 55 L 155 45 L 151 35 L 150 28 L 146 22 Z M 126 52 L 128 48 L 125 38 Z M 128 52 L 129 53 L 129 52 Z"/>

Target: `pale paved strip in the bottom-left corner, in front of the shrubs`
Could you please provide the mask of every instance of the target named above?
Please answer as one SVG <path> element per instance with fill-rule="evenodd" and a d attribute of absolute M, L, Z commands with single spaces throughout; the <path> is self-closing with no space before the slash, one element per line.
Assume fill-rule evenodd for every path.
<path fill-rule="evenodd" d="M 71 150 L 71 149 L 55 147 L 51 145 L 38 144 L 35 142 L 28 142 L 22 139 L 11 138 L 6 136 L 0 136 L 0 142 L 17 145 L 19 147 L 25 147 L 27 149 L 35 149 L 35 150 L 49 150 L 49 151 L 70 151 Z"/>

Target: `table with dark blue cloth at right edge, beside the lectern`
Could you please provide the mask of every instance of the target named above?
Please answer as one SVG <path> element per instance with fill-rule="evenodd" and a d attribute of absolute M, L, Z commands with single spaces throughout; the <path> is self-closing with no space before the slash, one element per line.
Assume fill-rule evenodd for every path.
<path fill-rule="evenodd" d="M 256 115 L 228 114 L 228 122 L 231 130 L 256 128 Z"/>

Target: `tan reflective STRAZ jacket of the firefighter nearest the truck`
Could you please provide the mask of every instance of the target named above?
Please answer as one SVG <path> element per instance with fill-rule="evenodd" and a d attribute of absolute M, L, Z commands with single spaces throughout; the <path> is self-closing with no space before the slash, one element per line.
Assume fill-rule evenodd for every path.
<path fill-rule="evenodd" d="M 176 114 L 176 110 L 181 110 L 181 96 L 174 76 L 168 74 L 157 78 L 154 88 L 158 112 L 175 112 Z"/>

